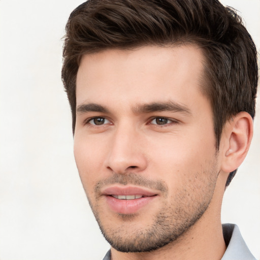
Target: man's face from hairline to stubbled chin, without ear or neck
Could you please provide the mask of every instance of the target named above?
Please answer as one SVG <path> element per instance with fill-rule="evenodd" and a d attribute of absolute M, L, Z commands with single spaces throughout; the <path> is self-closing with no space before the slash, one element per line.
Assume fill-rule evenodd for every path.
<path fill-rule="evenodd" d="M 154 250 L 207 210 L 218 176 L 203 54 L 192 45 L 83 56 L 74 154 L 100 228 L 115 249 Z"/>

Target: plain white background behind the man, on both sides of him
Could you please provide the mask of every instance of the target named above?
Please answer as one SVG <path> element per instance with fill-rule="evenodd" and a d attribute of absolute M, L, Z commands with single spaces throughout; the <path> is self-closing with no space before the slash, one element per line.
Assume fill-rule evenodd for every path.
<path fill-rule="evenodd" d="M 60 80 L 61 38 L 79 0 L 0 0 L 0 260 L 102 259 L 109 245 L 73 157 Z M 241 11 L 259 51 L 260 0 Z M 259 92 L 259 91 L 258 91 Z M 247 159 L 226 190 L 222 221 L 237 223 L 260 259 L 260 109 Z"/>

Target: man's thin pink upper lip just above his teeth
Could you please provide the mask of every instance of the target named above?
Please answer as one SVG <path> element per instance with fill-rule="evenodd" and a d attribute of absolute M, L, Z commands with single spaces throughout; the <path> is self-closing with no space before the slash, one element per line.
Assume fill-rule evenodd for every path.
<path fill-rule="evenodd" d="M 137 186 L 109 186 L 104 189 L 102 189 L 102 194 L 104 195 L 142 195 L 145 197 L 150 197 L 157 195 L 156 192 L 153 192 L 151 190 L 147 190 L 143 187 L 137 187 Z"/>

